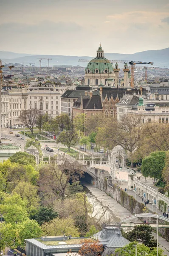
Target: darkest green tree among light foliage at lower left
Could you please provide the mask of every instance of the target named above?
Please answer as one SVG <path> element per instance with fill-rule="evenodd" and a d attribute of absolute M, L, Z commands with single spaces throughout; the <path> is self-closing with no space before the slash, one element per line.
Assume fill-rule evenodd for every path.
<path fill-rule="evenodd" d="M 45 222 L 49 222 L 58 216 L 57 212 L 54 212 L 52 208 L 40 207 L 38 211 L 31 215 L 30 218 L 37 221 L 41 226 Z"/>

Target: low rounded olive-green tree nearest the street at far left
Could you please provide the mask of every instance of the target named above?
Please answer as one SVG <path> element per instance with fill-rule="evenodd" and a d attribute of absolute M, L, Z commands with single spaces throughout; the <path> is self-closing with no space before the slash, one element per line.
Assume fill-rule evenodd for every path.
<path fill-rule="evenodd" d="M 21 165 L 36 166 L 34 156 L 26 152 L 17 152 L 9 157 L 11 163 L 19 163 Z"/>

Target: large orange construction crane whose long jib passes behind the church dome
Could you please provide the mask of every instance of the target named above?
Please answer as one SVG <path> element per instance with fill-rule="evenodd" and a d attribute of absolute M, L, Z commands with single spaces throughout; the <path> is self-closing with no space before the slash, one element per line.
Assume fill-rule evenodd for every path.
<path fill-rule="evenodd" d="M 80 59 L 79 61 L 83 61 L 83 62 L 90 62 L 91 60 L 86 60 L 86 59 Z M 118 61 L 118 60 L 109 60 L 111 62 L 111 64 L 113 63 L 123 63 L 123 64 L 130 64 L 131 65 L 131 81 L 130 81 L 130 85 L 131 87 L 134 87 L 134 70 L 135 70 L 135 64 L 151 64 L 153 65 L 153 62 L 145 62 L 145 61 Z"/>

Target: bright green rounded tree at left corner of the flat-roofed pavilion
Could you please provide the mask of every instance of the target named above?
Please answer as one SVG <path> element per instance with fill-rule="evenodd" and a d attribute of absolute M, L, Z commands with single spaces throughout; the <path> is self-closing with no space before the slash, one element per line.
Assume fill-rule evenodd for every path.
<path fill-rule="evenodd" d="M 42 229 L 35 220 L 27 219 L 18 225 L 18 233 L 21 245 L 24 245 L 24 239 L 31 239 L 41 236 Z"/>

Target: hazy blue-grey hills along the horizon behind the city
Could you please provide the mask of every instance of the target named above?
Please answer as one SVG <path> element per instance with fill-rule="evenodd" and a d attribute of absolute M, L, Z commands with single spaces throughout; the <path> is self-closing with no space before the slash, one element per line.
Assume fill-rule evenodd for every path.
<path fill-rule="evenodd" d="M 132 60 L 132 61 L 153 61 L 154 66 L 169 67 L 169 48 L 161 50 L 151 50 L 144 52 L 136 52 L 134 54 L 120 54 L 120 53 L 105 53 L 106 58 L 110 60 Z M 85 67 L 87 62 L 78 62 L 82 59 L 95 58 L 89 56 L 66 56 L 66 55 L 28 55 L 24 53 L 3 52 L 0 51 L 0 58 L 6 63 L 35 63 L 39 67 L 38 58 L 52 58 L 49 62 L 50 66 L 53 65 L 81 65 Z M 42 67 L 47 67 L 48 60 L 42 60 Z"/>

